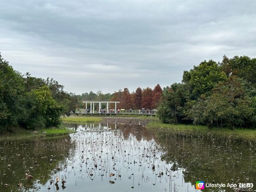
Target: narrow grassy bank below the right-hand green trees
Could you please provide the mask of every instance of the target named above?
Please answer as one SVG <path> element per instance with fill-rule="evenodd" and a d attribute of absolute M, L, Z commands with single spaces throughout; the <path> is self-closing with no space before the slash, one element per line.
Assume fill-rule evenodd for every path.
<path fill-rule="evenodd" d="M 216 134 L 220 136 L 231 136 L 239 137 L 245 140 L 256 140 L 256 130 L 236 128 L 235 130 L 230 130 L 227 128 L 212 128 L 209 129 L 207 126 L 201 125 L 173 125 L 173 124 L 164 124 L 158 121 L 149 122 L 146 125 L 146 128 L 151 128 L 157 130 L 165 130 L 172 132 L 186 132 L 186 133 L 197 133 L 197 134 Z"/>

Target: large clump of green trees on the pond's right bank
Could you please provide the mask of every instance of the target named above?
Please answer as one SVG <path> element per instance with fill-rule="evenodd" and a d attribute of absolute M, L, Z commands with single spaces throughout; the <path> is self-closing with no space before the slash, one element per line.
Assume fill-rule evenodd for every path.
<path fill-rule="evenodd" d="M 223 56 L 184 71 L 182 83 L 161 96 L 158 117 L 164 123 L 254 128 L 256 124 L 256 58 Z"/>

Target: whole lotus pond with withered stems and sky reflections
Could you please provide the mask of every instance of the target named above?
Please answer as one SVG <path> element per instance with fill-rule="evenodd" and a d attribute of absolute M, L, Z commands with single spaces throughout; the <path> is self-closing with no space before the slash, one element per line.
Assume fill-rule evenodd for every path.
<path fill-rule="evenodd" d="M 196 181 L 256 185 L 255 143 L 153 132 L 146 123 L 106 119 L 66 124 L 77 132 L 51 140 L 1 142 L 0 191 L 194 192 Z M 204 188 L 225 190 L 234 191 Z"/>

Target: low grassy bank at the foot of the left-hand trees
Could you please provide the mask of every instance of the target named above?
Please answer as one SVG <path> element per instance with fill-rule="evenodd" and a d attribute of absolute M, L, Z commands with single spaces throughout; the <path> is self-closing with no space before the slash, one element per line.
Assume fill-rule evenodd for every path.
<path fill-rule="evenodd" d="M 17 128 L 12 132 L 6 131 L 0 134 L 0 141 L 4 140 L 27 140 L 37 137 L 61 137 L 74 133 L 75 131 L 60 127 L 60 128 L 44 128 L 40 130 L 28 130 L 23 128 Z"/>

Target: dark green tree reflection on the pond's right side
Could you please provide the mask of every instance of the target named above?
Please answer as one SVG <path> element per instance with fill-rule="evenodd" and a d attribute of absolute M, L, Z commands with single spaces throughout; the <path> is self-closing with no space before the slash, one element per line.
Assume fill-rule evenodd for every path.
<path fill-rule="evenodd" d="M 210 134 L 165 132 L 158 133 L 157 143 L 165 151 L 162 160 L 173 163 L 174 169 L 186 170 L 185 182 L 256 183 L 255 143 Z"/>

